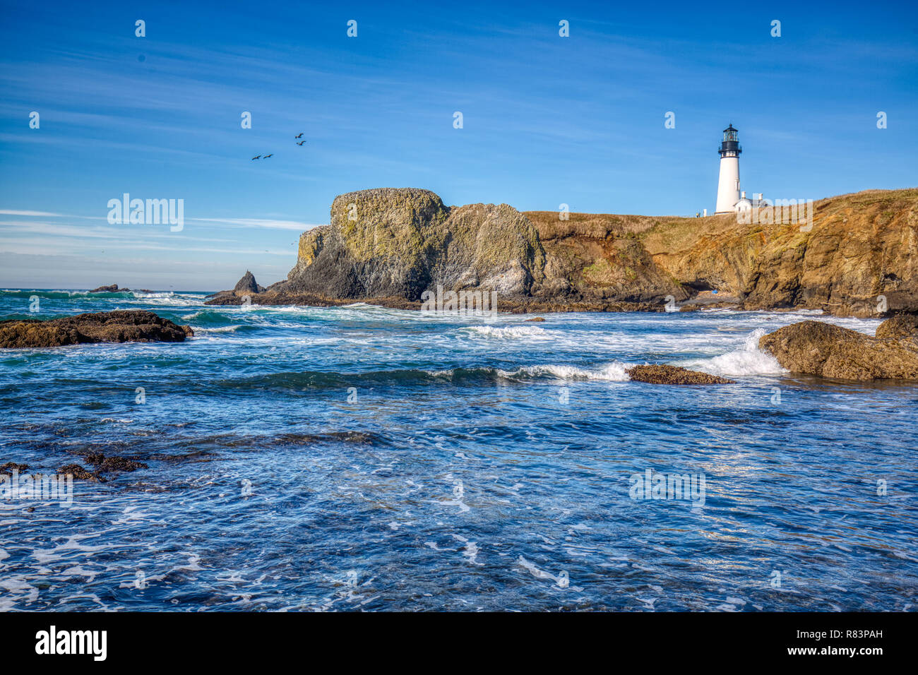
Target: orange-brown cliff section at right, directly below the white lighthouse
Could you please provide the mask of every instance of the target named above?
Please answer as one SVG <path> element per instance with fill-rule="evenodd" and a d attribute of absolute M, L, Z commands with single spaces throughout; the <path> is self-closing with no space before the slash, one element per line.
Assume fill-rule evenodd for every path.
<path fill-rule="evenodd" d="M 821 199 L 806 224 L 787 222 L 786 210 L 746 224 L 661 219 L 642 242 L 678 281 L 736 295 L 744 309 L 918 312 L 918 190 Z"/>

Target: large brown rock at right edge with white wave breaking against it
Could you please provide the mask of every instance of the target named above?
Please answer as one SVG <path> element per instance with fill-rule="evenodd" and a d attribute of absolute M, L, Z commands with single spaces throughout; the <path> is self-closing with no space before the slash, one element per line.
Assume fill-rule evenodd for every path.
<path fill-rule="evenodd" d="M 901 336 L 902 324 L 898 319 L 884 321 L 878 336 L 870 337 L 824 321 L 800 321 L 763 335 L 758 347 L 793 373 L 858 380 L 918 379 L 918 340 Z M 885 337 L 890 334 L 896 336 Z"/>

